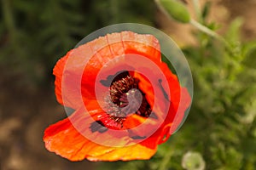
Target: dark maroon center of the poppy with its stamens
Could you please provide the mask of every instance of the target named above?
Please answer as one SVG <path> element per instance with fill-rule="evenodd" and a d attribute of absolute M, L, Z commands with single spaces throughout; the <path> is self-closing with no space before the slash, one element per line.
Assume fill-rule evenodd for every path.
<path fill-rule="evenodd" d="M 125 117 L 136 113 L 148 117 L 151 113 L 145 94 L 138 88 L 139 80 L 125 75 L 111 82 L 109 95 L 106 97 L 107 113 L 114 122 L 122 124 Z"/>

